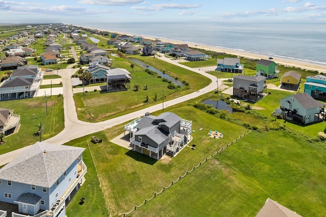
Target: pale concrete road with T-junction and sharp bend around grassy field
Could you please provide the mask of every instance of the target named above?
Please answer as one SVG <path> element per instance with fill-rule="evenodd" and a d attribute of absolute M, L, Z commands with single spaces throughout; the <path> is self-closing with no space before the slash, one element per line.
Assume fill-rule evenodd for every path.
<path fill-rule="evenodd" d="M 212 80 L 212 82 L 207 87 L 205 87 L 199 91 L 196 91 L 196 92 L 188 94 L 186 96 L 177 97 L 175 99 L 164 102 L 165 107 L 169 107 L 169 106 L 178 104 L 180 102 L 183 102 L 183 101 L 186 101 L 189 99 L 193 99 L 195 97 L 198 97 L 200 95 L 203 95 L 205 93 L 208 93 L 208 92 L 216 89 L 216 77 L 215 76 L 210 75 L 205 72 L 202 72 L 197 69 L 193 69 L 193 68 L 190 68 L 187 66 L 180 65 L 180 64 L 175 63 L 165 57 L 160 57 L 159 59 L 164 60 L 164 61 L 169 62 L 174 65 L 177 65 L 179 67 L 183 67 L 185 69 L 194 71 L 196 73 L 202 74 Z M 146 112 L 151 113 L 151 112 L 161 110 L 161 108 L 162 108 L 162 105 L 159 103 L 157 105 L 153 105 L 148 108 L 144 108 L 137 112 L 133 112 L 133 113 L 123 115 L 123 116 L 120 116 L 117 118 L 113 118 L 113 119 L 110 119 L 107 121 L 102 121 L 102 122 L 98 122 L 98 123 L 88 123 L 88 122 L 80 121 L 77 118 L 77 112 L 76 112 L 76 107 L 75 107 L 74 100 L 73 100 L 73 91 L 72 91 L 73 88 L 72 88 L 72 82 L 71 82 L 71 75 L 73 75 L 76 70 L 77 69 L 71 69 L 71 68 L 58 70 L 58 73 L 62 77 L 62 80 L 63 80 L 65 128 L 63 131 L 61 131 L 55 137 L 45 140 L 44 142 L 52 143 L 52 144 L 64 144 L 71 140 L 82 137 L 84 135 L 98 132 L 98 131 L 101 131 L 101 130 L 104 130 L 107 128 L 111 128 L 118 124 L 136 119 L 141 116 L 144 116 Z M 221 85 L 221 84 L 222 84 L 222 81 L 219 79 L 219 85 Z M 15 158 L 16 156 L 21 154 L 25 148 L 18 149 L 18 150 L 0 155 L 0 166 L 10 162 L 13 158 Z"/>

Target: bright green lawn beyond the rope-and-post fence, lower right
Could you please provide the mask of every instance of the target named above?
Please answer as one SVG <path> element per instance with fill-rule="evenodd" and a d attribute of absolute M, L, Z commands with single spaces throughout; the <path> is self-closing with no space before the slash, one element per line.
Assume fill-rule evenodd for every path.
<path fill-rule="evenodd" d="M 254 216 L 269 197 L 302 216 L 324 216 L 325 151 L 288 132 L 253 131 L 132 215 Z"/>

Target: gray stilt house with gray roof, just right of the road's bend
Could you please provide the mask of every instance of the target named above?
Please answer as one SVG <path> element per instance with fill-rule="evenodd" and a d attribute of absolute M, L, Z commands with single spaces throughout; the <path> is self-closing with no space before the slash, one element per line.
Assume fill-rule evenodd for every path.
<path fill-rule="evenodd" d="M 233 77 L 233 95 L 258 101 L 267 95 L 266 77 L 262 75 L 236 75 Z"/>

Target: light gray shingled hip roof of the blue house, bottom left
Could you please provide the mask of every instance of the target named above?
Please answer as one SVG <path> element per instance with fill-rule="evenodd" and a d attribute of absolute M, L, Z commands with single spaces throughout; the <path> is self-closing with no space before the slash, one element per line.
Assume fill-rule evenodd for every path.
<path fill-rule="evenodd" d="M 84 150 L 37 142 L 0 169 L 0 179 L 51 187 Z"/>

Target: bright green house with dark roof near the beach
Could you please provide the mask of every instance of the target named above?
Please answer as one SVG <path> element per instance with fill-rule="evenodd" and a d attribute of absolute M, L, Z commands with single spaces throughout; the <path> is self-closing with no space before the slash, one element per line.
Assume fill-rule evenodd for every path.
<path fill-rule="evenodd" d="M 277 68 L 277 64 L 270 60 L 259 60 L 256 63 L 256 74 L 265 76 L 267 79 L 278 77 L 280 70 Z"/>

